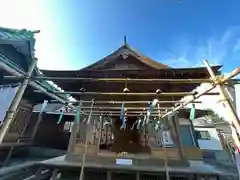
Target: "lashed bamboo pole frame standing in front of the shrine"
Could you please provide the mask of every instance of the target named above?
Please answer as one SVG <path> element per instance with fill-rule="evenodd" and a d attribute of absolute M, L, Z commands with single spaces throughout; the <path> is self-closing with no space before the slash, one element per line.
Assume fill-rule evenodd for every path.
<path fill-rule="evenodd" d="M 143 83 L 143 82 L 168 82 L 168 83 L 203 83 L 203 82 L 207 82 L 207 83 L 211 83 L 212 87 L 210 87 L 209 89 L 205 90 L 204 92 L 201 93 L 194 93 L 194 92 L 161 92 L 160 94 L 157 94 L 156 97 L 158 96 L 184 96 L 184 95 L 192 95 L 192 99 L 188 100 L 188 101 L 171 101 L 172 103 L 177 103 L 179 104 L 178 106 L 174 106 L 173 108 L 167 109 L 163 114 L 161 114 L 159 112 L 155 113 L 156 116 L 160 116 L 161 118 L 165 118 L 173 113 L 175 113 L 176 111 L 180 110 L 181 108 L 185 107 L 186 105 L 188 105 L 189 103 L 195 103 L 196 99 L 198 99 L 199 97 L 203 96 L 203 95 L 216 95 L 216 93 L 211 93 L 210 91 L 213 90 L 214 88 L 218 87 L 219 88 L 219 93 L 220 96 L 224 99 L 224 103 L 226 105 L 226 107 L 229 110 L 229 115 L 232 116 L 232 122 L 230 122 L 233 126 L 233 129 L 236 129 L 236 131 L 233 132 L 233 138 L 235 143 L 237 144 L 238 147 L 240 147 L 240 142 L 239 139 L 237 137 L 237 133 L 240 134 L 240 123 L 237 117 L 237 114 L 235 112 L 235 109 L 232 107 L 231 102 L 229 101 L 229 97 L 228 94 L 225 92 L 224 86 L 228 81 L 232 81 L 230 80 L 231 78 L 235 77 L 237 74 L 240 73 L 240 67 L 234 69 L 231 73 L 227 74 L 226 76 L 221 76 L 221 77 L 216 77 L 212 68 L 210 67 L 209 63 L 207 60 L 204 61 L 205 65 L 206 65 L 206 69 L 209 72 L 209 75 L 211 78 L 209 79 L 121 79 L 121 78 L 60 78 L 60 77 L 31 77 L 32 76 L 32 72 L 34 70 L 34 68 L 36 67 L 36 62 L 37 59 L 33 59 L 32 64 L 29 66 L 29 70 L 27 73 L 21 73 L 19 71 L 16 71 L 15 69 L 13 69 L 12 67 L 8 66 L 2 59 L 0 60 L 0 68 L 2 68 L 3 70 L 7 71 L 8 73 L 12 74 L 13 76 L 6 76 L 6 79 L 23 79 L 20 87 L 18 88 L 18 91 L 16 93 L 16 96 L 14 97 L 9 110 L 6 113 L 5 119 L 3 121 L 3 126 L 0 129 L 0 144 L 3 142 L 3 139 L 9 129 L 10 124 L 13 121 L 14 118 L 14 114 L 16 113 L 16 110 L 19 106 L 20 100 L 22 99 L 22 96 L 25 92 L 25 89 L 27 88 L 28 85 L 32 86 L 33 88 L 36 89 L 37 92 L 41 92 L 46 94 L 47 96 L 59 101 L 60 103 L 63 103 L 65 106 L 67 106 L 70 109 L 76 110 L 76 106 L 71 104 L 70 101 L 62 99 L 61 97 L 57 96 L 56 94 L 75 94 L 75 95 L 79 95 L 79 96 L 83 96 L 83 95 L 127 95 L 127 96 L 149 96 L 149 95 L 156 95 L 156 93 L 113 93 L 113 92 L 60 92 L 60 91 L 46 91 L 44 88 L 42 88 L 39 83 L 36 83 L 37 80 L 83 80 L 83 81 L 106 81 L 106 82 L 137 82 L 137 83 Z M 86 101 L 87 102 L 87 101 Z M 92 101 L 91 101 L 92 102 Z M 106 101 L 109 102 L 109 101 Z M 164 101 L 163 101 L 164 102 Z M 167 102 L 167 101 L 166 101 Z M 76 103 L 76 102 L 74 102 Z M 90 101 L 89 101 L 90 103 Z M 109 102 L 109 104 L 112 102 Z M 116 102 L 116 104 L 120 104 L 122 102 Z M 137 103 L 137 102 L 132 102 Z M 161 103 L 161 101 L 159 101 L 158 103 Z M 130 103 L 129 103 L 130 104 Z M 140 112 L 140 111 L 139 111 Z M 137 113 L 139 113 L 137 112 Z M 91 117 L 91 115 L 99 115 L 102 116 L 103 113 L 102 111 L 90 111 L 88 113 L 81 111 L 81 113 L 83 113 L 84 115 L 89 115 L 89 117 Z M 93 114 L 92 114 L 93 113 Z M 118 114 L 118 113 L 116 113 Z M 87 137 L 88 139 L 88 137 Z M 86 140 L 87 142 L 87 140 Z M 80 180 L 83 179 L 83 169 L 84 169 L 84 164 L 85 164 L 85 154 L 87 152 L 87 144 L 85 144 L 85 150 L 84 150 L 84 158 L 83 158 L 83 162 L 82 162 L 82 169 L 81 169 L 81 174 L 80 174 Z M 167 170 L 166 170 L 167 171 Z M 167 172 L 166 172 L 167 173 Z M 168 179 L 169 179 L 169 174 L 166 174 Z"/>

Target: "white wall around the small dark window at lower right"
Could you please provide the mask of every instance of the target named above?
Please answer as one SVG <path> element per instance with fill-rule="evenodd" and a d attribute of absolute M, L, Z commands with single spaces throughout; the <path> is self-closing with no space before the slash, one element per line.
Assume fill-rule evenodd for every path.
<path fill-rule="evenodd" d="M 210 140 L 198 140 L 200 149 L 223 150 L 216 128 L 194 127 L 196 131 L 208 131 Z"/>

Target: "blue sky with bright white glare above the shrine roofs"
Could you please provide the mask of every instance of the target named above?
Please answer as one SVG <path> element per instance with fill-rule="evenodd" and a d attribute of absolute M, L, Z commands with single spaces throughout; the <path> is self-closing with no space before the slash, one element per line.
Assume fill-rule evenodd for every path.
<path fill-rule="evenodd" d="M 41 30 L 36 45 L 40 68 L 80 69 L 120 47 L 124 35 L 143 54 L 173 67 L 209 59 L 229 72 L 240 64 L 239 0 L 2 3 L 1 26 Z"/>

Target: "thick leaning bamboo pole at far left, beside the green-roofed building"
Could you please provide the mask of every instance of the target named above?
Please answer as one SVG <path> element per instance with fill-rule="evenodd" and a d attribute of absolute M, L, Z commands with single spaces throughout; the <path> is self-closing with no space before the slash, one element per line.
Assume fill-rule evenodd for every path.
<path fill-rule="evenodd" d="M 21 99 L 23 97 L 23 94 L 24 94 L 27 86 L 28 86 L 29 77 L 31 76 L 34 68 L 36 67 L 36 64 L 37 64 L 37 59 L 33 58 L 32 63 L 29 66 L 28 72 L 26 73 L 26 76 L 25 76 L 23 82 L 20 84 L 20 86 L 19 86 L 19 88 L 17 90 L 17 93 L 16 93 L 15 97 L 12 100 L 12 103 L 11 103 L 9 109 L 7 110 L 6 116 L 5 116 L 4 120 L 3 120 L 3 125 L 2 125 L 2 127 L 0 129 L 0 144 L 2 144 L 3 139 L 4 139 L 5 135 L 6 135 L 6 133 L 8 132 L 10 125 L 11 125 L 11 123 L 14 120 L 14 116 L 16 114 L 16 111 L 17 111 L 17 108 L 19 106 L 19 103 L 20 103 L 20 101 L 21 101 Z"/>

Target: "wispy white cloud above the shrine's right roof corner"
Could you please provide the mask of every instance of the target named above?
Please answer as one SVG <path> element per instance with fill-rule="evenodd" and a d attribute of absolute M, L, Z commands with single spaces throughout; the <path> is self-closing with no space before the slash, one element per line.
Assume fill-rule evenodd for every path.
<path fill-rule="evenodd" d="M 170 52 L 163 53 L 161 60 L 172 67 L 203 66 L 203 60 L 208 59 L 211 64 L 222 64 L 228 56 L 234 56 L 240 50 L 240 27 L 231 27 L 220 36 L 192 42 L 183 38 Z"/>

